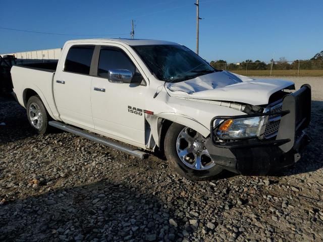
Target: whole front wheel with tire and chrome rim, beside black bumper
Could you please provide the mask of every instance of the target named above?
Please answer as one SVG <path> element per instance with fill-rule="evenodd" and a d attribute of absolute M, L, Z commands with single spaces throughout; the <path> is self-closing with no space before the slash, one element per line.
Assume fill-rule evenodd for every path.
<path fill-rule="evenodd" d="M 188 140 L 190 142 L 186 142 L 186 138 L 183 138 L 186 137 L 186 135 L 182 136 L 182 132 L 189 133 L 190 136 L 194 136 L 194 134 L 196 135 L 194 137 L 188 137 Z M 193 138 L 193 141 L 191 141 L 191 138 Z M 199 142 L 200 140 L 202 140 L 201 143 Z M 185 142 L 188 143 L 187 147 L 189 148 L 184 148 L 186 146 Z M 203 142 L 205 142 L 205 138 L 203 138 L 199 133 L 188 127 L 176 123 L 173 123 L 170 126 L 170 128 L 167 131 L 164 142 L 165 155 L 167 160 L 170 162 L 171 166 L 177 173 L 191 180 L 210 180 L 213 179 L 214 176 L 218 175 L 223 170 L 223 168 L 221 168 L 219 165 L 216 165 L 214 161 L 209 157 L 208 152 L 205 146 L 203 145 Z M 182 145 L 181 143 L 185 144 Z M 194 146 L 192 143 L 196 144 L 196 146 Z M 203 147 L 201 147 L 200 145 L 202 145 Z M 180 149 L 178 149 L 178 147 Z M 184 160 L 182 161 L 182 159 L 180 158 L 180 154 L 182 153 L 178 153 L 178 151 L 180 152 L 181 149 L 183 149 L 183 151 L 185 149 L 188 149 L 189 151 L 192 150 L 192 153 L 188 153 L 184 156 L 186 157 L 186 159 L 189 159 L 189 161 L 192 162 L 187 161 L 185 158 L 182 158 Z M 198 149 L 196 153 L 194 153 L 195 149 Z M 194 154 L 197 154 L 197 156 L 201 157 L 201 165 L 198 166 L 196 157 L 194 157 L 195 162 L 193 161 L 192 158 Z M 202 155 L 200 156 L 200 154 Z M 186 163 L 184 163 L 185 161 Z"/>

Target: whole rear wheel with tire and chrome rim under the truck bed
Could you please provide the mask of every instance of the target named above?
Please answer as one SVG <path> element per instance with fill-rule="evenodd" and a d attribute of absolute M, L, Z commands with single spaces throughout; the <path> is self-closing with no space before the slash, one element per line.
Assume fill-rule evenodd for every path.
<path fill-rule="evenodd" d="M 27 102 L 27 117 L 29 124 L 38 134 L 48 132 L 49 115 L 39 96 L 31 96 Z"/>

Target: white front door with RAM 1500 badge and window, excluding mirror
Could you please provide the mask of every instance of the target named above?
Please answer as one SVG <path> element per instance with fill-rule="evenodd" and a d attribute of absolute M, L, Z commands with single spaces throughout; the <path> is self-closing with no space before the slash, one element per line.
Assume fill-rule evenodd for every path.
<path fill-rule="evenodd" d="M 133 145 L 145 144 L 144 108 L 147 86 L 127 49 L 97 46 L 97 69 L 91 87 L 92 116 L 95 130 Z M 94 65 L 95 66 L 95 65 Z M 114 83 L 109 70 L 131 71 L 131 83 Z M 96 77 L 94 77 L 96 76 Z"/>

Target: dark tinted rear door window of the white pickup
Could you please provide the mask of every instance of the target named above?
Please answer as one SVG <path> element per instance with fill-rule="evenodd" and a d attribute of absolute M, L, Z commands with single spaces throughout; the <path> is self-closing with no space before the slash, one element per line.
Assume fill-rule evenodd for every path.
<path fill-rule="evenodd" d="M 90 74 L 94 45 L 74 45 L 67 53 L 64 71 Z"/>

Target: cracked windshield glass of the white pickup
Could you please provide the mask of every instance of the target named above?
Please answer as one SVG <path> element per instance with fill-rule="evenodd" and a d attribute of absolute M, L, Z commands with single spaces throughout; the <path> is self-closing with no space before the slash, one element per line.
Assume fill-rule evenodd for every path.
<path fill-rule="evenodd" d="M 207 62 L 183 45 L 132 46 L 161 81 L 180 82 L 215 72 Z"/>

